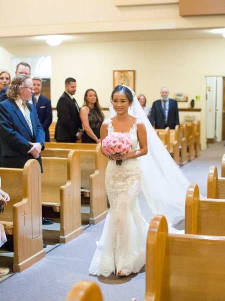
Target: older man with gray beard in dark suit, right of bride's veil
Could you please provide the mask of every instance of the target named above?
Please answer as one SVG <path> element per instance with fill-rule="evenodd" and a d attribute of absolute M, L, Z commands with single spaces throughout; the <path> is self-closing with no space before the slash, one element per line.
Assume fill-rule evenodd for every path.
<path fill-rule="evenodd" d="M 160 94 L 161 98 L 155 100 L 152 104 L 150 123 L 155 128 L 165 128 L 168 126 L 174 129 L 179 125 L 179 114 L 177 102 L 175 99 L 168 98 L 168 88 L 162 87 Z"/>

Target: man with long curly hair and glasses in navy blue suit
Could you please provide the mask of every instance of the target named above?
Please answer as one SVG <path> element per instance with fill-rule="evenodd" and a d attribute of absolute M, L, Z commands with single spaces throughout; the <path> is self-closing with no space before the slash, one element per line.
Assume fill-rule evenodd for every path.
<path fill-rule="evenodd" d="M 17 74 L 9 85 L 8 99 L 0 102 L 1 167 L 23 168 L 34 158 L 42 171 L 40 152 L 45 134 L 35 107 L 28 103 L 32 92 L 31 78 Z"/>

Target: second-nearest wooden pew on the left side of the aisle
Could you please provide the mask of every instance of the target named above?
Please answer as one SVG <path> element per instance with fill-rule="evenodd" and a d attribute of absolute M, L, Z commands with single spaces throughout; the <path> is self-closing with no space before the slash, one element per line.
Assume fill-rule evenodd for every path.
<path fill-rule="evenodd" d="M 44 152 L 41 152 L 42 206 L 60 212 L 59 242 L 66 243 L 82 233 L 79 153 L 69 149 L 63 158 L 46 158 Z"/>

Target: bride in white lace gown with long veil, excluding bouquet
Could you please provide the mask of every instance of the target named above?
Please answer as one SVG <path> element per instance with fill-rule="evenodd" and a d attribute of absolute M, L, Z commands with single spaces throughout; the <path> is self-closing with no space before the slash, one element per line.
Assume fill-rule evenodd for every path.
<path fill-rule="evenodd" d="M 137 209 L 142 189 L 153 214 L 165 215 L 170 231 L 184 218 L 188 180 L 157 137 L 134 92 L 123 85 L 111 94 L 111 118 L 102 123 L 101 141 L 111 132 L 126 133 L 129 153 L 109 157 L 105 188 L 110 204 L 89 272 L 107 277 L 138 273 L 145 264 L 148 223 Z M 103 151 L 102 154 L 106 156 Z M 116 160 L 122 160 L 120 166 Z"/>

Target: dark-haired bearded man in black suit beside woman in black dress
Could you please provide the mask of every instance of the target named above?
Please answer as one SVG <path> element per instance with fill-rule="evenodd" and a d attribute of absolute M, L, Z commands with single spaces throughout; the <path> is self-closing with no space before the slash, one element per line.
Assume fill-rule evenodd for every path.
<path fill-rule="evenodd" d="M 57 102 L 57 122 L 54 138 L 57 142 L 76 142 L 82 136 L 82 123 L 79 118 L 79 107 L 73 95 L 76 92 L 76 80 L 68 77 L 65 80 L 65 92 Z"/>

